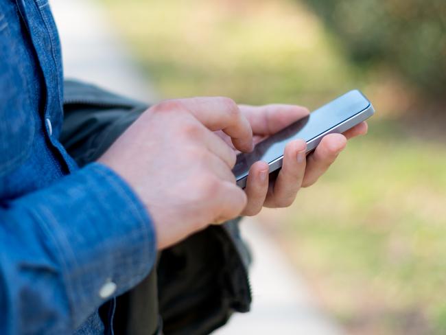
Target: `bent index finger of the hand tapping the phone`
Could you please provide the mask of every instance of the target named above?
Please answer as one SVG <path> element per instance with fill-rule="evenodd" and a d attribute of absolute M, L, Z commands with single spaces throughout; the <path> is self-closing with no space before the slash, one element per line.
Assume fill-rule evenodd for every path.
<path fill-rule="evenodd" d="M 253 150 L 253 130 L 233 100 L 228 97 L 193 97 L 180 102 L 209 130 L 225 132 L 238 150 Z"/>

